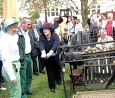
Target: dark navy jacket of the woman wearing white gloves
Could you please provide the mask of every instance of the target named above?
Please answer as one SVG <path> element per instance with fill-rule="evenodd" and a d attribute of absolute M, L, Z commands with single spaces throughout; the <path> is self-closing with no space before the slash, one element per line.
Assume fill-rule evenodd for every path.
<path fill-rule="evenodd" d="M 47 41 L 45 35 L 42 33 L 39 39 L 39 45 L 40 45 L 40 51 L 45 50 L 46 53 L 48 53 L 50 50 L 53 50 L 54 53 L 56 53 L 57 55 L 49 58 L 51 59 L 50 63 L 52 63 L 54 60 L 56 64 L 60 66 L 59 54 L 58 54 L 59 36 L 56 33 L 52 33 L 50 41 Z M 47 62 L 49 61 L 49 59 L 46 59 L 45 61 Z"/>

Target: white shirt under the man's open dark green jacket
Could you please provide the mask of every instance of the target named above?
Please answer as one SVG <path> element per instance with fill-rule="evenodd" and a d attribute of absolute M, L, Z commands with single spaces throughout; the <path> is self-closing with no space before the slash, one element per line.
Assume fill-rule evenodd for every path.
<path fill-rule="evenodd" d="M 23 31 L 22 30 L 22 34 L 25 38 L 25 54 L 29 54 L 31 52 L 31 44 L 30 44 L 30 37 L 28 35 L 29 31 Z"/>

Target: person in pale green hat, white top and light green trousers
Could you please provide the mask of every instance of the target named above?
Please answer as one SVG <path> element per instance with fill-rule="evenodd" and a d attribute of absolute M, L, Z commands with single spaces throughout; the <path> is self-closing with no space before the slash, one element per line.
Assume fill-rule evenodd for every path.
<path fill-rule="evenodd" d="M 2 54 L 2 74 L 7 81 L 10 98 L 21 98 L 21 85 L 20 85 L 20 62 L 18 50 L 18 29 L 17 19 L 6 19 L 4 21 L 4 32 L 0 39 L 0 51 Z"/>

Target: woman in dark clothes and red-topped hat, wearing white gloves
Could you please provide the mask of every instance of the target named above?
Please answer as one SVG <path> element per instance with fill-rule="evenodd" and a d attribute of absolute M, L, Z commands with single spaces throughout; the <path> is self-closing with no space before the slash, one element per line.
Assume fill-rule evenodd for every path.
<path fill-rule="evenodd" d="M 42 35 L 39 39 L 41 58 L 45 61 L 48 84 L 51 92 L 55 92 L 56 84 L 61 85 L 61 67 L 58 55 L 59 36 L 54 33 L 50 23 L 40 27 Z"/>

